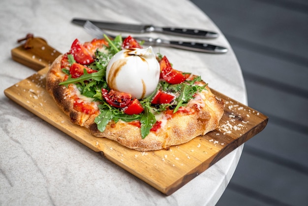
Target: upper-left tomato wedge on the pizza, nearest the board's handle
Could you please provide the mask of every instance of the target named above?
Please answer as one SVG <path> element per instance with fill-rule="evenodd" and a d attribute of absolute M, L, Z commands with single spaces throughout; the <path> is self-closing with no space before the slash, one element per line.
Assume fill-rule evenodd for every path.
<path fill-rule="evenodd" d="M 90 52 L 80 43 L 77 38 L 72 43 L 70 51 L 75 61 L 79 64 L 88 65 L 94 62 Z"/>

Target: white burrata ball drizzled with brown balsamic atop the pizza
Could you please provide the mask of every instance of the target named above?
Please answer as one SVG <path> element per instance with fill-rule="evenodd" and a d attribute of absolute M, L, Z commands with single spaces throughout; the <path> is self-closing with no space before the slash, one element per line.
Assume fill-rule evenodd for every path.
<path fill-rule="evenodd" d="M 151 46 L 147 49 L 128 48 L 111 58 L 106 80 L 110 89 L 142 99 L 156 89 L 159 73 L 159 63 Z"/>

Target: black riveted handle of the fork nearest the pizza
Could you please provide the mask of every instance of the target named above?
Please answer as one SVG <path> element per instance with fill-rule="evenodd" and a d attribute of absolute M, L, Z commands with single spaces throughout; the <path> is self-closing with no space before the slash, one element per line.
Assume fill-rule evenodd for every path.
<path fill-rule="evenodd" d="M 169 41 L 170 46 L 179 49 L 185 49 L 190 51 L 206 52 L 213 54 L 223 54 L 228 51 L 227 48 L 207 43 L 195 43 L 195 42 L 182 42 L 182 41 Z"/>

